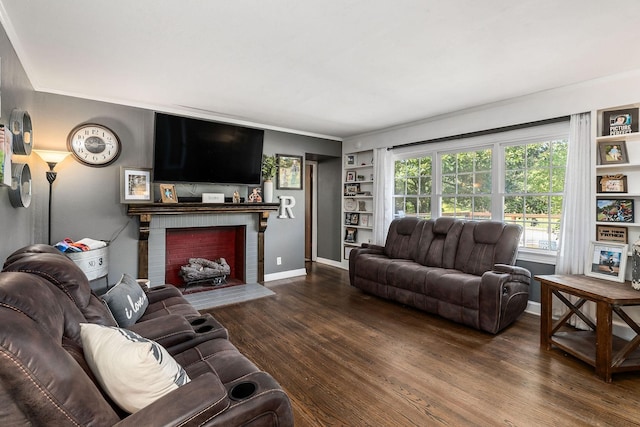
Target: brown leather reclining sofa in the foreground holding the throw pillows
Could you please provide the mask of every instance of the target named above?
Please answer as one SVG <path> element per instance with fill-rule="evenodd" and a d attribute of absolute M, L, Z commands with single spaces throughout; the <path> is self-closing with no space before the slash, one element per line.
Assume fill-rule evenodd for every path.
<path fill-rule="evenodd" d="M 226 329 L 210 314 L 200 314 L 173 286 L 144 292 L 148 306 L 135 324 L 127 329 L 96 327 L 117 325 L 82 270 L 65 255 L 51 246 L 31 245 L 9 256 L 0 272 L 2 424 L 293 425 L 286 393 L 237 350 L 227 339 Z M 154 340 L 190 382 L 176 382 L 179 387 L 148 406 L 123 410 L 101 387 L 88 362 L 83 334 L 89 328 L 100 333 L 117 331 L 116 335 L 126 332 L 128 339 L 128 331 L 133 331 Z M 152 345 L 144 338 L 143 344 Z M 137 337 L 132 340 L 139 342 Z M 157 346 L 150 348 L 154 361 L 169 363 L 171 357 L 161 357 L 164 354 L 156 352 Z M 155 366 L 151 365 L 154 375 L 150 376 L 155 377 Z M 171 378 L 185 380 L 182 375 Z"/>

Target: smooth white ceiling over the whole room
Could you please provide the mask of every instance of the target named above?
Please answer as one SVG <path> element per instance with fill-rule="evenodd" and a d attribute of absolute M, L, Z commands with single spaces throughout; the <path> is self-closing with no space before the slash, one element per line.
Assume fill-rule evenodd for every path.
<path fill-rule="evenodd" d="M 640 69 L 640 1 L 0 0 L 38 91 L 344 138 Z"/>

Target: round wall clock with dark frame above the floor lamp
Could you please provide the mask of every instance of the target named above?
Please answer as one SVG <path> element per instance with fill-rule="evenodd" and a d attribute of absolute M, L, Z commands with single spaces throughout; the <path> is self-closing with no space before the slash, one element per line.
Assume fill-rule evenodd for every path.
<path fill-rule="evenodd" d="M 89 123 L 76 126 L 69 133 L 67 148 L 80 163 L 102 167 L 116 161 L 122 145 L 111 129 Z"/>

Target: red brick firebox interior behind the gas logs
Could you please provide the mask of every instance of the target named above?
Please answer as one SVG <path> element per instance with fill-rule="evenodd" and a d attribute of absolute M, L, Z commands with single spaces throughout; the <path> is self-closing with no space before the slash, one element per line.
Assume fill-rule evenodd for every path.
<path fill-rule="evenodd" d="M 244 283 L 245 225 L 168 228 L 165 235 L 167 283 L 177 286 L 184 283 L 180 267 L 188 264 L 189 258 L 224 258 L 231 267 L 227 281 Z"/>

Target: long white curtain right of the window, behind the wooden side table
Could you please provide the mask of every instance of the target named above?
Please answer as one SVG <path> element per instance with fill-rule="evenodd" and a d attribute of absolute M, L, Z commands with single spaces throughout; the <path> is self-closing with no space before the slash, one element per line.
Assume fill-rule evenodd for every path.
<path fill-rule="evenodd" d="M 564 201 L 560 228 L 559 247 L 556 258 L 556 274 L 584 274 L 589 243 L 592 240 L 591 229 L 591 117 L 589 113 L 573 114 L 569 127 L 569 147 L 567 170 L 564 179 Z M 554 298 L 555 299 L 555 298 Z M 559 315 L 565 309 L 555 300 L 554 314 Z M 595 308 L 586 307 L 593 317 Z M 573 324 L 585 327 L 576 316 Z"/>

